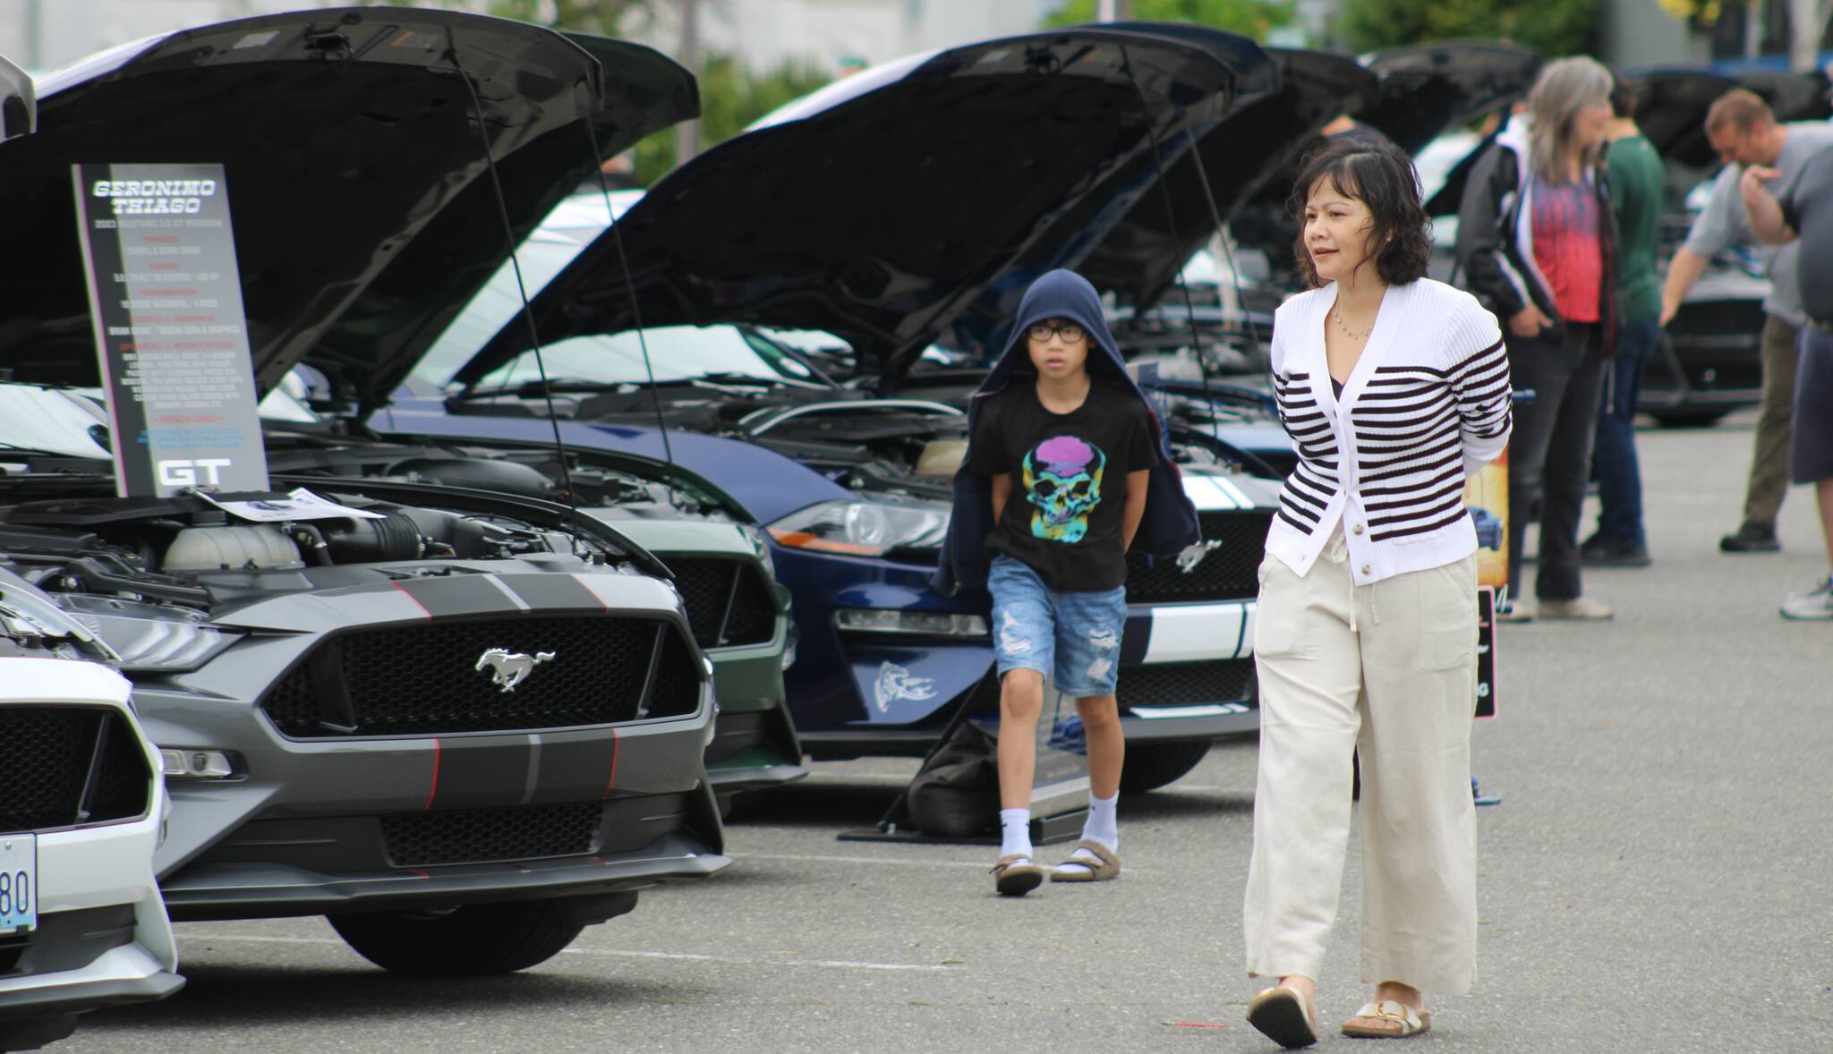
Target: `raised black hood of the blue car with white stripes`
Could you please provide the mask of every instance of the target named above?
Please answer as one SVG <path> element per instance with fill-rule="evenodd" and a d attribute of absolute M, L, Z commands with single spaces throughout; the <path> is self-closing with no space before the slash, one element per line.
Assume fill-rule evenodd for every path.
<path fill-rule="evenodd" d="M 632 328 L 634 286 L 645 326 L 827 330 L 900 372 L 1017 260 L 1078 257 L 1089 235 L 1063 220 L 1100 202 L 1118 216 L 1146 185 L 1116 176 L 1219 119 L 1235 84 L 1212 48 L 1105 27 L 858 73 L 651 187 L 535 297 L 537 332 Z M 455 379 L 511 359 L 524 334 L 506 326 Z"/>

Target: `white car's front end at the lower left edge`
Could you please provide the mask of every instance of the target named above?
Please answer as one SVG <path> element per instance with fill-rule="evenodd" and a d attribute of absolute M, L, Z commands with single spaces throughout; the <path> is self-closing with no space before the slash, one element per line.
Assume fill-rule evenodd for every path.
<path fill-rule="evenodd" d="M 163 766 L 112 653 L 0 572 L 0 1050 L 183 986 L 152 878 Z"/>

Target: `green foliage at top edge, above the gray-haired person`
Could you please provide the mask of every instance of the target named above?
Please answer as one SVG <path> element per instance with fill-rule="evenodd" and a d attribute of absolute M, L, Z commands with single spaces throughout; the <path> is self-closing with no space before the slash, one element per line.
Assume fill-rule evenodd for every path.
<path fill-rule="evenodd" d="M 1336 33 L 1355 51 L 1501 38 L 1547 59 L 1593 49 L 1598 0 L 1345 0 Z"/>

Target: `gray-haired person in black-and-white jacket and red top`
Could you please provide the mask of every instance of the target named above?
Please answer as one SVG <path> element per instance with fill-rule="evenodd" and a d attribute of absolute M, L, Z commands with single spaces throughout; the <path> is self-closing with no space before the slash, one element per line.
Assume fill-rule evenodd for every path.
<path fill-rule="evenodd" d="M 1521 543 L 1540 500 L 1540 618 L 1606 620 L 1584 596 L 1578 517 L 1615 348 L 1617 220 L 1602 167 L 1611 75 L 1595 59 L 1547 64 L 1477 159 L 1457 209 L 1457 260 L 1505 321 L 1514 387 L 1534 392 L 1509 449 L 1509 588 L 1525 594 Z M 1521 119 L 1525 117 L 1525 121 Z M 1534 610 L 1510 598 L 1503 621 Z"/>

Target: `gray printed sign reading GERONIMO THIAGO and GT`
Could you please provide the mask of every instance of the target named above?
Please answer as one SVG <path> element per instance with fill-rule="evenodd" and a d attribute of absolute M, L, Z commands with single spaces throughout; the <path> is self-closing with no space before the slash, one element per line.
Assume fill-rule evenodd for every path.
<path fill-rule="evenodd" d="M 222 165 L 71 165 L 115 491 L 268 489 Z"/>

